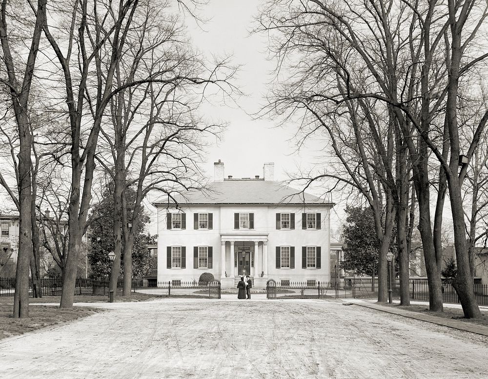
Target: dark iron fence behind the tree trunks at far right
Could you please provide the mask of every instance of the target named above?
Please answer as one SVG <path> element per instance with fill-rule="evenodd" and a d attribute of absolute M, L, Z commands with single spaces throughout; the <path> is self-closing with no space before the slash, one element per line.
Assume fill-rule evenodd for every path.
<path fill-rule="evenodd" d="M 427 280 L 410 279 L 410 299 L 428 301 Z M 474 296 L 478 305 L 488 305 L 488 285 L 473 284 Z M 445 303 L 460 303 L 456 290 L 452 284 L 443 281 L 442 301 Z"/>

